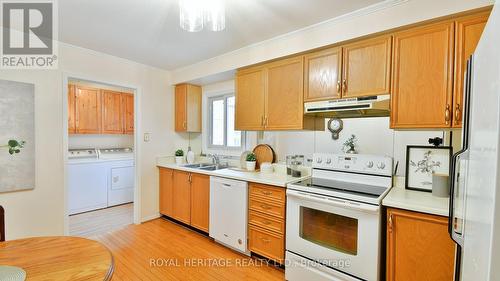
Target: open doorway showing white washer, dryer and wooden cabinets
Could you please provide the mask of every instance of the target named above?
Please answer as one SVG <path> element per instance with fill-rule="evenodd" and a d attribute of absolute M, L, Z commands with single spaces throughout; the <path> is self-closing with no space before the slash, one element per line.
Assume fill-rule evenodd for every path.
<path fill-rule="evenodd" d="M 86 238 L 138 223 L 135 87 L 64 79 L 65 233 Z"/>

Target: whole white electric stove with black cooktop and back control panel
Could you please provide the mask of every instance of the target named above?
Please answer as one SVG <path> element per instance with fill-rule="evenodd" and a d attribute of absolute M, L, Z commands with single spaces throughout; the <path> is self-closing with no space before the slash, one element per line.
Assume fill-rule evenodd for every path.
<path fill-rule="evenodd" d="M 287 189 L 286 279 L 379 280 L 392 158 L 315 154 L 313 161 L 312 178 Z"/>

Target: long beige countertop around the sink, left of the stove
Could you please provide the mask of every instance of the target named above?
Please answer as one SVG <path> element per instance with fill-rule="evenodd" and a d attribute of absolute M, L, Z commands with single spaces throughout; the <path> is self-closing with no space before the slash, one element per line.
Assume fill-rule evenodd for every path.
<path fill-rule="evenodd" d="M 168 169 L 181 170 L 186 172 L 192 172 L 192 173 L 198 173 L 198 174 L 204 174 L 204 175 L 216 176 L 234 180 L 241 180 L 247 182 L 262 183 L 280 187 L 286 187 L 286 185 L 289 183 L 298 182 L 310 177 L 310 173 L 304 170 L 302 173 L 304 176 L 300 178 L 294 178 L 286 174 L 286 167 L 285 169 L 283 169 L 280 165 L 277 165 L 275 167 L 274 173 L 247 172 L 247 171 L 239 171 L 236 169 L 233 170 L 231 168 L 221 169 L 216 171 L 206 171 L 206 170 L 184 167 L 184 165 L 186 164 L 177 165 L 173 163 L 172 159 L 169 157 L 158 158 L 156 161 L 156 165 L 158 167 L 163 167 Z"/>

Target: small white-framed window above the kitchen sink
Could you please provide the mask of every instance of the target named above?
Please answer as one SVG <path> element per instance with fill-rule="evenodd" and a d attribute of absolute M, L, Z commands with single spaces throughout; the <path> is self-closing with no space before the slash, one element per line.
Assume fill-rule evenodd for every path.
<path fill-rule="evenodd" d="M 209 106 L 209 146 L 212 148 L 239 149 L 244 134 L 234 129 L 234 94 L 208 99 Z"/>

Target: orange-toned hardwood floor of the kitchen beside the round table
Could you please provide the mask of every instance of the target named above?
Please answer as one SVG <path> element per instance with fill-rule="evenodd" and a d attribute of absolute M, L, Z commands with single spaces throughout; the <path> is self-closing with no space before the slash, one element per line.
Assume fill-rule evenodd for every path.
<path fill-rule="evenodd" d="M 117 280 L 284 280 L 282 269 L 249 258 L 166 219 L 95 236 L 113 253 Z"/>

